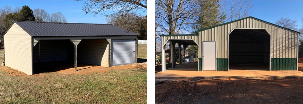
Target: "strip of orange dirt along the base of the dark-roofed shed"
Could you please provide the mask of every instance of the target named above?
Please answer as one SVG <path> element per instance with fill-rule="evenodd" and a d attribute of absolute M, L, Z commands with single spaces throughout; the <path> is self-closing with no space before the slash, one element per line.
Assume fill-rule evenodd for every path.
<path fill-rule="evenodd" d="M 62 73 L 62 74 L 90 75 L 95 72 L 105 73 L 110 70 L 128 69 L 128 68 L 129 69 L 138 69 L 138 68 L 146 69 L 147 62 L 113 66 L 110 68 L 97 66 L 97 65 L 79 63 L 78 67 L 77 67 L 78 71 L 76 71 L 76 72 L 75 72 L 75 68 L 69 68 L 69 66 L 58 66 L 58 67 L 52 68 L 53 70 L 52 69 L 48 69 L 48 70 L 50 70 L 49 72 Z M 61 70 L 58 70 L 58 69 L 61 69 Z M 1 66 L 0 71 L 8 72 L 9 75 L 14 75 L 14 76 L 28 76 L 24 72 L 18 71 L 16 69 L 12 69 L 11 67 L 8 67 L 8 66 Z M 34 74 L 33 76 L 40 76 L 40 75 L 44 75 L 44 73 Z"/>

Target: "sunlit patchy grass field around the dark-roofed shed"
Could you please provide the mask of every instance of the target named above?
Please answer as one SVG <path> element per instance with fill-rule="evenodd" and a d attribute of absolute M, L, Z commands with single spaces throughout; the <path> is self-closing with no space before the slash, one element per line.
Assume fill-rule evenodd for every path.
<path fill-rule="evenodd" d="M 138 50 L 138 58 L 146 59 L 146 45 L 139 45 Z M 0 58 L 3 60 L 3 52 Z M 0 67 L 1 104 L 147 103 L 147 69 L 21 76 L 10 75 L 5 70 L 12 69 Z"/>

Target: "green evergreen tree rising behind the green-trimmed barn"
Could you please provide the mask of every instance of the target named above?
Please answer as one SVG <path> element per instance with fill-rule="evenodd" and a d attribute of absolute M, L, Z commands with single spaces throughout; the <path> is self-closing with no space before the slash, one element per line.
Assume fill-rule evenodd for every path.
<path fill-rule="evenodd" d="M 196 24 L 193 29 L 205 29 L 211 26 L 222 24 L 225 15 L 220 13 L 219 1 L 203 0 L 198 2 L 198 13 L 195 15 Z"/>

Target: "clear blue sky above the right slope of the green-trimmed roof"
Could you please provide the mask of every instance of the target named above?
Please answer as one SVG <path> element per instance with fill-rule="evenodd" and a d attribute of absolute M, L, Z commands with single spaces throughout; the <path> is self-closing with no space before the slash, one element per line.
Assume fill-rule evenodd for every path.
<path fill-rule="evenodd" d="M 297 25 L 302 25 L 303 1 L 251 1 L 251 16 L 261 20 L 276 23 L 281 17 L 298 20 Z M 296 10 L 297 9 L 297 10 Z M 289 14 L 290 13 L 290 14 Z M 302 27 L 302 26 L 301 26 Z"/>

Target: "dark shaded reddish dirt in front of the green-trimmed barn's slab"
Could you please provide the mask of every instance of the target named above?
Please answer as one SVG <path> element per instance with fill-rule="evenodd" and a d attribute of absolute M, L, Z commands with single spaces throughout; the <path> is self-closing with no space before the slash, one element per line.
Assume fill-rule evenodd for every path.
<path fill-rule="evenodd" d="M 157 104 L 302 104 L 302 79 L 182 80 L 155 85 Z"/>

